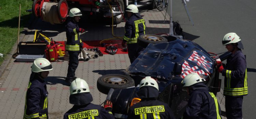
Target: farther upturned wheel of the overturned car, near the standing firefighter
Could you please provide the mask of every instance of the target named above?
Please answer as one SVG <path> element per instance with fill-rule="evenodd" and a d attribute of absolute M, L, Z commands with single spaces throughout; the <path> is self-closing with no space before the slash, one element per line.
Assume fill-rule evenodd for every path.
<path fill-rule="evenodd" d="M 159 44 L 159 43 L 166 43 L 168 40 L 165 37 L 154 35 L 154 34 L 144 34 L 140 35 L 137 40 L 138 44 L 146 48 L 148 44 Z"/>

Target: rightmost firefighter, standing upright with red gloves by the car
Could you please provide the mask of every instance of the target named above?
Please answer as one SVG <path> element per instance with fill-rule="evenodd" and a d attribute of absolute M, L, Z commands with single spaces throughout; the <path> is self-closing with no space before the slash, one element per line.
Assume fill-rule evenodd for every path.
<path fill-rule="evenodd" d="M 243 44 L 236 33 L 228 33 L 222 45 L 232 54 L 227 64 L 219 66 L 218 71 L 225 77 L 224 96 L 227 119 L 242 119 L 243 96 L 248 94 L 246 59 L 241 49 Z"/>

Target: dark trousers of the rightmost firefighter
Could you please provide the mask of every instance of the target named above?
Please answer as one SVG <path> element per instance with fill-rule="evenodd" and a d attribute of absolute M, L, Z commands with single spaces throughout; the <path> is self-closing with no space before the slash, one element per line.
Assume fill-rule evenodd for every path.
<path fill-rule="evenodd" d="M 242 97 L 225 96 L 227 119 L 242 119 Z"/>

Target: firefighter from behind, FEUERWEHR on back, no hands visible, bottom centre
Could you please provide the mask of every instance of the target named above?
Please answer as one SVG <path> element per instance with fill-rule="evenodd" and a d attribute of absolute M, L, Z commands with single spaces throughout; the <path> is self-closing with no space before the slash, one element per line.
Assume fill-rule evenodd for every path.
<path fill-rule="evenodd" d="M 156 80 L 151 77 L 142 79 L 136 92 L 141 101 L 130 107 L 128 119 L 175 119 L 168 104 L 157 100 L 158 95 Z"/>

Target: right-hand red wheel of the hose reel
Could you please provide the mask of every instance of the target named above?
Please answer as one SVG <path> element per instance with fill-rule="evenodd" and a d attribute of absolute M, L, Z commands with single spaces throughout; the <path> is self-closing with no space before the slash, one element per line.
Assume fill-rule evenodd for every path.
<path fill-rule="evenodd" d="M 64 8 L 64 10 L 63 10 Z M 61 20 L 64 20 L 67 18 L 68 16 L 68 12 L 69 12 L 69 9 L 68 9 L 68 2 L 66 0 L 60 0 L 58 2 L 58 16 Z M 66 10 L 65 10 L 66 9 Z"/>

